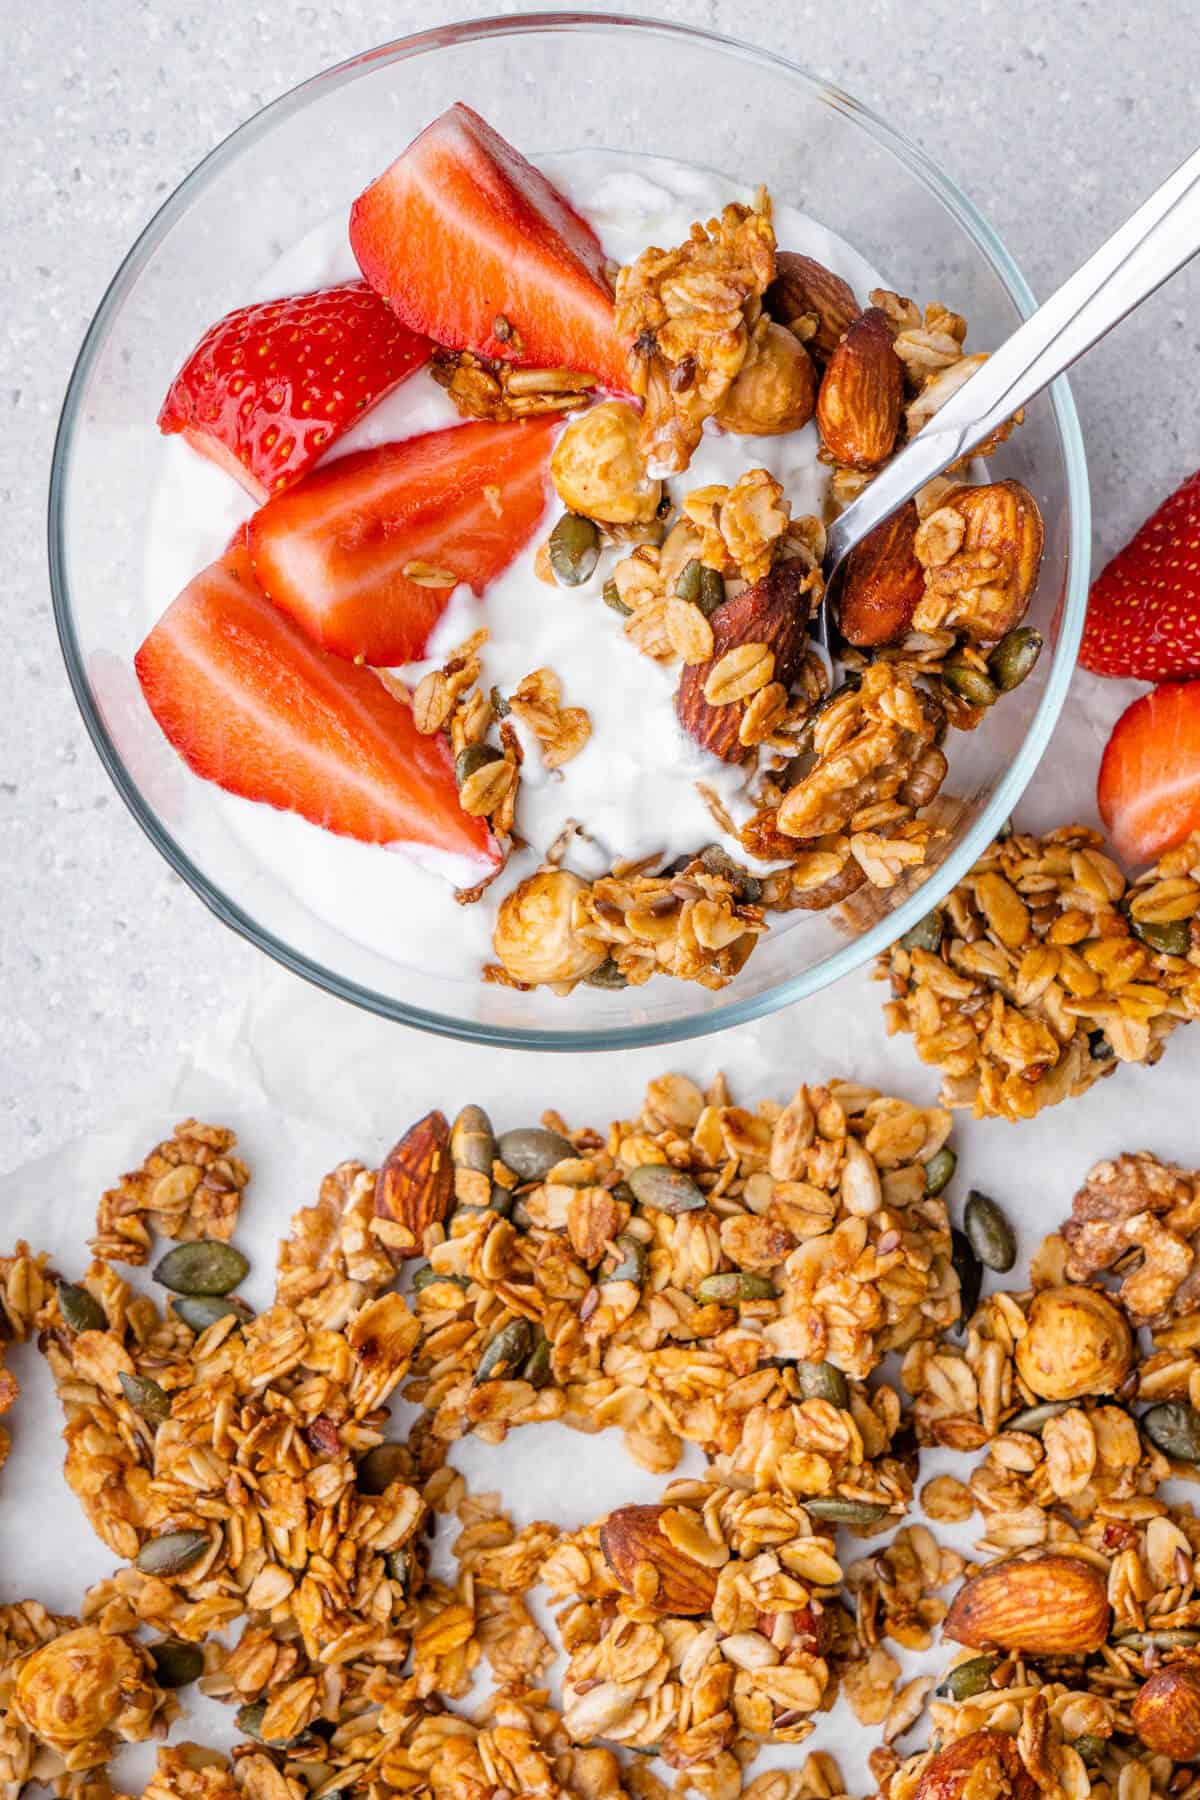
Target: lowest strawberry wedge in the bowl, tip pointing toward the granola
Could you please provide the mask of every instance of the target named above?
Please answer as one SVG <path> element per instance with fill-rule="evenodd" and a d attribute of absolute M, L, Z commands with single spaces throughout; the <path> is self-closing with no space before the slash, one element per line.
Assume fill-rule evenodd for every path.
<path fill-rule="evenodd" d="M 459 806 L 444 738 L 423 738 L 371 670 L 311 644 L 259 592 L 245 551 L 184 589 L 135 666 L 162 731 L 205 781 L 365 844 L 497 866 L 484 821 Z"/>

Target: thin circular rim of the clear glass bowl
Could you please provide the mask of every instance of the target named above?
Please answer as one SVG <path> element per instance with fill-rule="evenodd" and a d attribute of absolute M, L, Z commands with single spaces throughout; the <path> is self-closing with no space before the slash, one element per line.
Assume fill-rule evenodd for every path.
<path fill-rule="evenodd" d="M 842 976 L 851 974 L 860 968 L 880 950 L 885 950 L 896 941 L 910 925 L 914 925 L 925 913 L 930 911 L 948 891 L 966 875 L 977 857 L 986 850 L 997 832 L 1002 828 L 1004 821 L 1011 814 L 1013 806 L 1020 799 L 1022 792 L 1029 785 L 1029 779 L 1042 760 L 1042 754 L 1051 740 L 1058 715 L 1067 698 L 1067 688 L 1070 684 L 1070 675 L 1074 670 L 1076 653 L 1079 648 L 1079 637 L 1083 634 L 1083 614 L 1087 608 L 1087 581 L 1088 581 L 1088 556 L 1090 556 L 1090 495 L 1088 495 L 1088 477 L 1087 477 L 1087 457 L 1083 452 L 1083 437 L 1079 432 L 1079 419 L 1070 398 L 1070 389 L 1065 380 L 1054 382 L 1049 389 L 1051 405 L 1054 410 L 1054 423 L 1058 427 L 1058 436 L 1063 446 L 1065 472 L 1067 472 L 1067 497 L 1070 506 L 1070 542 L 1069 542 L 1069 569 L 1067 569 L 1067 592 L 1065 603 L 1060 617 L 1058 644 L 1054 650 L 1054 662 L 1051 675 L 1042 695 L 1038 711 L 1033 718 L 1029 733 L 1020 747 L 1020 752 L 1013 760 L 1007 772 L 1002 776 L 995 794 L 988 801 L 986 808 L 973 821 L 966 832 L 963 842 L 950 857 L 941 864 L 936 875 L 925 882 L 909 900 L 905 900 L 894 913 L 880 920 L 862 936 L 853 938 L 833 956 L 824 958 L 813 968 L 804 970 L 801 976 L 790 981 L 781 981 L 774 988 L 763 994 L 754 994 L 743 999 L 730 999 L 727 1006 L 720 1006 L 712 1012 L 696 1013 L 687 1019 L 669 1019 L 651 1024 L 630 1024 L 615 1028 L 587 1028 L 587 1030 L 543 1030 L 543 1028 L 513 1028 L 513 1026 L 491 1026 L 486 1022 L 477 1022 L 473 1019 L 459 1019 L 448 1013 L 435 1013 L 417 1006 L 407 1006 L 403 1001 L 392 999 L 385 994 L 376 994 L 354 981 L 347 981 L 331 968 L 300 956 L 290 945 L 282 943 L 270 931 L 266 931 L 257 920 L 250 918 L 241 907 L 234 905 L 218 887 L 209 882 L 201 869 L 180 850 L 169 832 L 158 823 L 151 810 L 142 801 L 142 796 L 130 776 L 124 761 L 108 733 L 108 727 L 101 716 L 95 697 L 86 679 L 83 655 L 79 650 L 79 641 L 76 637 L 70 590 L 67 580 L 67 554 L 65 554 L 65 484 L 67 484 L 67 466 L 72 454 L 72 441 L 76 425 L 81 416 L 81 400 L 92 373 L 92 365 L 104 340 L 108 322 L 121 310 L 126 293 L 137 281 L 140 270 L 149 261 L 151 254 L 158 248 L 164 236 L 175 225 L 175 221 L 187 211 L 193 196 L 203 189 L 214 176 L 218 176 L 227 164 L 230 164 L 239 151 L 268 131 L 279 119 L 286 119 L 291 113 L 302 110 L 308 101 L 320 90 L 326 92 L 333 86 L 342 86 L 353 81 L 363 68 L 387 61 L 403 63 L 416 56 L 425 56 L 444 47 L 473 43 L 484 38 L 497 36 L 525 36 L 531 32 L 570 32 L 570 31 L 612 31 L 615 34 L 644 34 L 646 38 L 666 38 L 666 40 L 687 40 L 700 47 L 709 47 L 716 50 L 725 50 L 729 54 L 739 56 L 748 63 L 768 65 L 775 70 L 783 70 L 788 77 L 799 85 L 810 88 L 815 99 L 847 113 L 855 122 L 867 131 L 876 142 L 889 149 L 918 180 L 928 187 L 937 200 L 946 207 L 946 211 L 957 220 L 963 230 L 968 234 L 975 248 L 991 265 L 1011 301 L 1022 317 L 1027 317 L 1034 308 L 1033 293 L 1016 268 L 1016 263 L 1006 250 L 1004 243 L 991 229 L 988 220 L 977 211 L 977 207 L 966 198 L 966 194 L 934 164 L 923 149 L 912 144 L 901 131 L 887 124 L 878 113 L 869 106 L 864 106 L 853 95 L 842 92 L 829 81 L 817 76 L 813 70 L 790 61 L 788 58 L 777 56 L 772 50 L 757 49 L 739 41 L 738 38 L 729 38 L 721 32 L 705 31 L 694 25 L 680 25 L 671 20 L 626 16 L 615 13 L 518 13 L 511 16 L 491 16 L 477 20 L 461 20 L 452 25 L 441 25 L 432 31 L 412 32 L 405 38 L 396 38 L 389 43 L 376 45 L 371 50 L 363 50 L 358 56 L 351 56 L 342 63 L 335 63 L 331 68 L 324 68 L 306 81 L 290 88 L 279 99 L 270 101 L 257 113 L 239 124 L 227 139 L 223 139 L 214 149 L 203 157 L 196 167 L 184 176 L 180 185 L 173 194 L 158 207 L 149 223 L 135 239 L 133 247 L 122 259 L 117 274 L 113 275 L 101 304 L 95 310 L 92 324 L 85 335 L 79 356 L 72 369 L 72 376 L 67 387 L 67 396 L 63 400 L 63 412 L 58 425 L 58 434 L 54 439 L 54 457 L 50 464 L 50 491 L 49 491 L 49 562 L 50 562 L 50 594 L 54 603 L 54 623 L 58 628 L 58 639 L 63 652 L 63 661 L 67 664 L 67 675 L 70 679 L 76 702 L 83 715 L 88 736 L 95 745 L 95 751 L 113 781 L 113 787 L 124 799 L 126 806 L 140 824 L 140 828 L 149 837 L 151 844 L 166 857 L 167 864 L 180 875 L 187 886 L 205 902 L 205 905 L 225 923 L 230 931 L 246 938 L 250 943 L 257 945 L 284 968 L 313 983 L 318 988 L 336 995 L 338 999 L 349 1001 L 354 1006 L 362 1006 L 367 1012 L 378 1013 L 383 1019 L 390 1019 L 398 1024 L 416 1026 L 423 1031 L 434 1031 L 441 1037 L 461 1039 L 464 1042 L 493 1044 L 497 1048 L 507 1049 L 545 1049 L 545 1051 L 596 1051 L 596 1049 L 633 1049 L 646 1044 L 673 1044 L 684 1042 L 693 1037 L 707 1037 L 712 1031 L 725 1031 L 730 1026 L 747 1024 L 754 1019 L 768 1017 L 779 1012 L 783 1006 L 790 1006 L 795 1001 L 804 999 L 810 994 L 829 986 Z"/>

